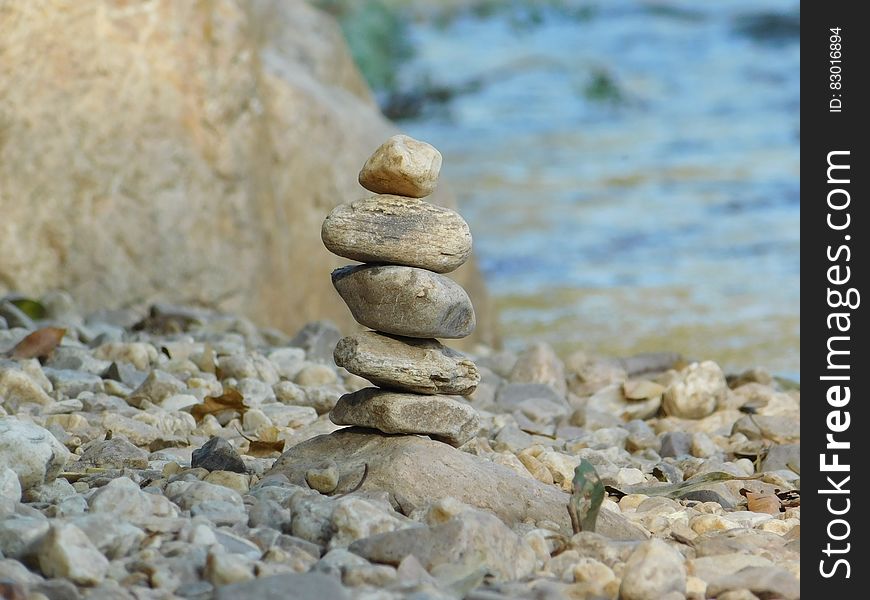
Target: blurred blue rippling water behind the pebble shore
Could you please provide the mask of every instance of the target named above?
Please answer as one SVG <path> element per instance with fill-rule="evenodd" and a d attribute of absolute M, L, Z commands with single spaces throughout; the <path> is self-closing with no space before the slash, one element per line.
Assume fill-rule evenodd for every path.
<path fill-rule="evenodd" d="M 406 84 L 480 83 L 401 125 L 445 157 L 508 346 L 798 375 L 799 43 L 764 39 L 763 19 L 761 39 L 740 32 L 797 7 L 609 0 L 413 25 Z"/>

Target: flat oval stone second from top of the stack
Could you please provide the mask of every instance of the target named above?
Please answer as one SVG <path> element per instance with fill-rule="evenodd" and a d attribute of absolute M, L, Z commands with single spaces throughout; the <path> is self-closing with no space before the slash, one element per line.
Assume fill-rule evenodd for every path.
<path fill-rule="evenodd" d="M 402 196 L 373 196 L 335 207 L 320 230 L 327 250 L 359 262 L 459 268 L 471 255 L 471 231 L 455 211 Z"/>

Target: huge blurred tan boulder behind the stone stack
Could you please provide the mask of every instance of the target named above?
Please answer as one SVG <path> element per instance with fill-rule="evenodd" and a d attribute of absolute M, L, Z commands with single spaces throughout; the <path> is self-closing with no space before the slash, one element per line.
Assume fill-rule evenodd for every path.
<path fill-rule="evenodd" d="M 395 127 L 301 0 L 0 3 L 0 131 L 0 294 L 352 328 L 320 224 Z"/>

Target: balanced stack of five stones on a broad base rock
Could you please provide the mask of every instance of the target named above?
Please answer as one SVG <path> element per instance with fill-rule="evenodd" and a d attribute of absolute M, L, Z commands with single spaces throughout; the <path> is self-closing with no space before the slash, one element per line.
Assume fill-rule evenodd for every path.
<path fill-rule="evenodd" d="M 331 252 L 362 262 L 332 273 L 354 319 L 374 331 L 339 341 L 335 362 L 378 387 L 342 396 L 337 425 L 429 435 L 460 445 L 480 429 L 476 411 L 451 395 L 480 382 L 474 363 L 435 338 L 474 330 L 468 294 L 449 273 L 471 254 L 471 231 L 456 212 L 430 204 L 441 154 L 397 135 L 369 158 L 359 182 L 376 195 L 342 204 L 323 222 Z"/>

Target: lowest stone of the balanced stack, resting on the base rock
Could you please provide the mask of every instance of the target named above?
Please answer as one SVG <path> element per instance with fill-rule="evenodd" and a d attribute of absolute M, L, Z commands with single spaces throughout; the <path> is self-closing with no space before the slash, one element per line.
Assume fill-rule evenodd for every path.
<path fill-rule="evenodd" d="M 365 388 L 345 394 L 329 413 L 336 425 L 358 425 L 384 433 L 429 435 L 456 446 L 480 431 L 477 411 L 452 398 Z"/>

